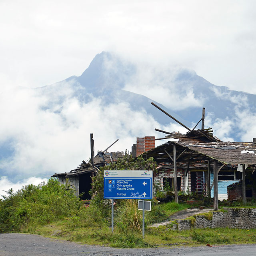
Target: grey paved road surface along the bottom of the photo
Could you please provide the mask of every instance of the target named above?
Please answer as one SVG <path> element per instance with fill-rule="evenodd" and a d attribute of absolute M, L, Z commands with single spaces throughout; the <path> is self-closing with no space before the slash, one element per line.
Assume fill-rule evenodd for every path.
<path fill-rule="evenodd" d="M 256 244 L 216 247 L 118 249 L 86 246 L 30 234 L 0 234 L 0 256 L 255 256 Z"/>

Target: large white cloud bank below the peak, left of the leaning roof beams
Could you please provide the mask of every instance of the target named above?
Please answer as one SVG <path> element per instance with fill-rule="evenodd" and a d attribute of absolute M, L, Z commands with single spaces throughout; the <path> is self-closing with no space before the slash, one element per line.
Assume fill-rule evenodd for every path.
<path fill-rule="evenodd" d="M 93 97 L 81 103 L 72 80 L 48 89 L 6 88 L 0 94 L 0 146 L 7 144 L 13 151 L 2 158 L 0 174 L 12 181 L 76 168 L 90 157 L 90 133 L 95 153 L 117 138 L 112 151 L 131 150 L 137 136 L 159 136 L 154 128 L 162 126 L 144 110 Z"/>

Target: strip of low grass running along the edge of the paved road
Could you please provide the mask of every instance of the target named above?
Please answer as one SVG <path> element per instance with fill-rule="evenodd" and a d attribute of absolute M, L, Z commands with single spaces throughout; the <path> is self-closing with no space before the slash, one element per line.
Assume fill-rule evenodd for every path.
<path fill-rule="evenodd" d="M 171 224 L 158 228 L 146 228 L 145 238 L 140 231 L 122 231 L 115 227 L 67 228 L 68 220 L 53 222 L 44 226 L 35 226 L 25 232 L 43 235 L 61 240 L 81 242 L 88 245 L 110 246 L 120 248 L 147 248 L 156 246 L 206 246 L 223 244 L 256 243 L 256 230 L 241 230 L 231 228 L 204 228 L 176 231 Z"/>

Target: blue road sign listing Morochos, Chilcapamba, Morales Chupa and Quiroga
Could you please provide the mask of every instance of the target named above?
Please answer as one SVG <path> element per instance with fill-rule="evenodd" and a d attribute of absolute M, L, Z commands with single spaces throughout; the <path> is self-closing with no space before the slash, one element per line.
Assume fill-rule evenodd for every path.
<path fill-rule="evenodd" d="M 152 199 L 152 171 L 105 171 L 104 198 Z"/>

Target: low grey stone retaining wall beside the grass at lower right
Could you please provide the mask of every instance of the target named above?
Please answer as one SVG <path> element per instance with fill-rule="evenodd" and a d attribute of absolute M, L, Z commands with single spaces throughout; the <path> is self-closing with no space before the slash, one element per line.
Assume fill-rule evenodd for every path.
<path fill-rule="evenodd" d="M 190 228 L 256 228 L 255 208 L 223 208 L 225 212 L 212 212 L 212 220 L 204 215 L 196 215 L 194 219 L 175 220 L 173 230 Z"/>

